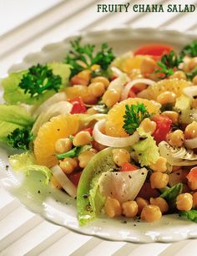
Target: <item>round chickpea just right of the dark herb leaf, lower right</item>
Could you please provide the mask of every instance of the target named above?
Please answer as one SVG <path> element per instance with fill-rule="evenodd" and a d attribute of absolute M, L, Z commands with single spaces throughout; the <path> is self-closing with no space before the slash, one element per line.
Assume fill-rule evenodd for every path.
<path fill-rule="evenodd" d="M 193 197 L 189 193 L 182 193 L 176 197 L 176 207 L 180 211 L 188 212 L 193 205 Z"/>

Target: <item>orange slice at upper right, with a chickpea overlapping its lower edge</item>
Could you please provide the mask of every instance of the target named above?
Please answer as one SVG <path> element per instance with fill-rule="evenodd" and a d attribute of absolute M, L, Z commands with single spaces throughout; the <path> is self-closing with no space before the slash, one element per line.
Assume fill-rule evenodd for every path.
<path fill-rule="evenodd" d="M 182 95 L 183 89 L 188 87 L 190 84 L 191 83 L 189 81 L 185 80 L 164 79 L 149 86 L 146 90 L 143 90 L 141 93 L 139 93 L 139 96 L 148 98 L 149 100 L 156 100 L 161 93 L 168 90 L 174 92 L 174 94 L 179 97 Z"/>

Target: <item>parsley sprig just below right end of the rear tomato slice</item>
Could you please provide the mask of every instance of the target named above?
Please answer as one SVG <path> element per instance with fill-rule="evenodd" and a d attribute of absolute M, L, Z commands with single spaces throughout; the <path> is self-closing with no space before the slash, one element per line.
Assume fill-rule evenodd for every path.
<path fill-rule="evenodd" d="M 169 77 L 169 75 L 174 74 L 174 68 L 179 69 L 179 64 L 183 61 L 181 57 L 176 55 L 172 50 L 169 54 L 164 54 L 159 62 L 158 66 L 161 69 L 155 70 L 154 73 L 162 74 L 163 79 Z"/>

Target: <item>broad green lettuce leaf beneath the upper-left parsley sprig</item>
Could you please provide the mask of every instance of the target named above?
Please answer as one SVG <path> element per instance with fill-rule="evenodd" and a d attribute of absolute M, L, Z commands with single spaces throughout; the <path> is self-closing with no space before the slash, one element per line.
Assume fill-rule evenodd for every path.
<path fill-rule="evenodd" d="M 48 68 L 53 70 L 53 74 L 60 75 L 62 85 L 65 85 L 65 83 L 68 82 L 68 77 L 70 75 L 70 67 L 68 64 L 52 63 L 48 64 Z M 28 69 L 9 74 L 7 78 L 3 79 L 3 99 L 8 104 L 14 105 L 18 103 L 26 103 L 29 105 L 40 105 L 44 100 L 47 100 L 56 93 L 55 90 L 49 90 L 43 95 L 39 95 L 39 97 L 31 97 L 28 93 L 25 94 L 24 90 L 21 89 L 18 84 L 23 78 L 23 75 L 27 73 Z"/>

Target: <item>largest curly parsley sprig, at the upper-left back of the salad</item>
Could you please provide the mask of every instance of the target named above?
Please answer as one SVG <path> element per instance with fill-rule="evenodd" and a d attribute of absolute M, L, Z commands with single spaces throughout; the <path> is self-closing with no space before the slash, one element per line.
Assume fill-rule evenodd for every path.
<path fill-rule="evenodd" d="M 115 58 L 112 49 L 109 48 L 108 44 L 102 44 L 98 53 L 94 54 L 95 45 L 81 45 L 81 40 L 82 38 L 77 38 L 70 42 L 72 49 L 64 59 L 65 63 L 73 67 L 70 77 L 84 69 L 90 69 L 93 64 L 98 64 L 100 72 L 104 73 Z"/>

